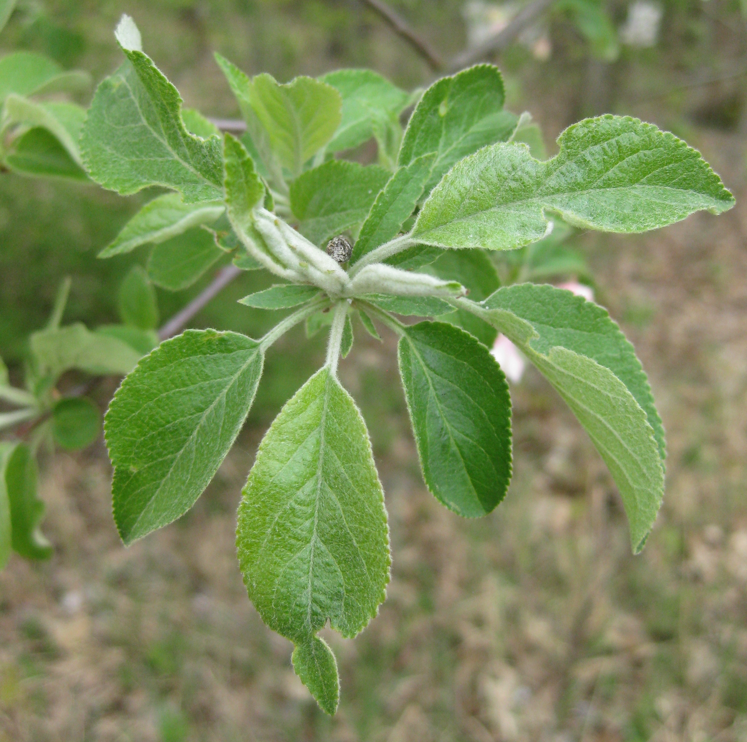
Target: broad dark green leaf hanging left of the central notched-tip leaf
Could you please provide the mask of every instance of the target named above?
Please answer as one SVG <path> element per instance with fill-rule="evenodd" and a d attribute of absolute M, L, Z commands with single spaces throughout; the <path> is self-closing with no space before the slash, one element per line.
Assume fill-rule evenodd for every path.
<path fill-rule="evenodd" d="M 243 335 L 187 330 L 125 378 L 104 429 L 126 544 L 193 506 L 244 424 L 263 362 L 261 346 Z"/>

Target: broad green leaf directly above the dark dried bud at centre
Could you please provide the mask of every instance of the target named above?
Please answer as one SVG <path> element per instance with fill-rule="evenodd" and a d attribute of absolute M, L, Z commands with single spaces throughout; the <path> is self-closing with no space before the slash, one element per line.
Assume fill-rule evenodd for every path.
<path fill-rule="evenodd" d="M 291 185 L 291 209 L 299 231 L 317 245 L 364 222 L 390 173 L 378 165 L 330 160 L 298 177 Z"/>

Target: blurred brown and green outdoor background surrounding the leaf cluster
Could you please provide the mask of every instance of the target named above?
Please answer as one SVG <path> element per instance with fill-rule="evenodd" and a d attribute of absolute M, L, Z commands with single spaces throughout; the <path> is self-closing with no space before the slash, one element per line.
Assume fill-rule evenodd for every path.
<path fill-rule="evenodd" d="M 187 105 L 238 110 L 212 52 L 281 81 L 372 67 L 407 89 L 434 70 L 357 0 L 22 0 L 0 51 L 33 49 L 95 81 L 120 64 L 134 17 Z M 438 55 L 480 43 L 520 4 L 390 0 Z M 111 518 L 102 441 L 43 462 L 46 563 L 0 573 L 0 740 L 747 741 L 747 7 L 738 0 L 558 0 L 495 57 L 506 107 L 530 111 L 548 156 L 565 126 L 602 112 L 698 147 L 737 197 L 640 237 L 574 235 L 596 299 L 648 371 L 667 430 L 666 498 L 633 557 L 619 495 L 586 434 L 532 369 L 512 385 L 515 475 L 491 516 L 465 521 L 418 469 L 395 338 L 356 328 L 341 378 L 362 407 L 390 513 L 394 566 L 379 616 L 326 636 L 341 706 L 326 717 L 265 628 L 235 560 L 235 510 L 256 446 L 317 368 L 323 338 L 273 347 L 238 445 L 196 507 L 131 548 Z M 81 102 L 87 102 L 84 96 Z M 365 157 L 365 152 L 362 153 Z M 0 356 L 19 374 L 61 276 L 65 321 L 116 321 L 141 253 L 96 253 L 150 197 L 0 173 Z M 167 318 L 189 291 L 159 289 Z M 236 299 L 196 327 L 258 336 Z M 116 383 L 100 386 L 102 409 Z"/>

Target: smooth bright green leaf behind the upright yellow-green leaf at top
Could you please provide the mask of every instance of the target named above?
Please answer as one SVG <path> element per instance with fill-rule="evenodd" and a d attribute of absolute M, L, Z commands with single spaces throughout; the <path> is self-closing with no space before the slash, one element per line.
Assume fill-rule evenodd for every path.
<path fill-rule="evenodd" d="M 320 78 L 342 97 L 342 115 L 327 152 L 353 149 L 402 113 L 409 95 L 371 69 L 336 69 Z"/>

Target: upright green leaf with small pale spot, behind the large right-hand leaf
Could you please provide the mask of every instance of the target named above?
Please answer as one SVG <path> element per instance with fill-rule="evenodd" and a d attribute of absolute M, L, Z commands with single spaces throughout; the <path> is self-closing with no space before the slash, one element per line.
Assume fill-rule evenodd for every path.
<path fill-rule="evenodd" d="M 399 164 L 436 153 L 426 195 L 454 163 L 511 136 L 518 118 L 503 110 L 505 97 L 503 78 L 492 64 L 441 78 L 425 91 L 407 125 Z"/>

